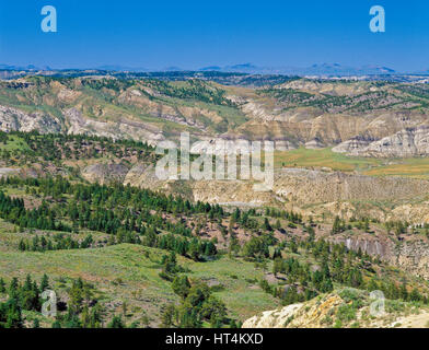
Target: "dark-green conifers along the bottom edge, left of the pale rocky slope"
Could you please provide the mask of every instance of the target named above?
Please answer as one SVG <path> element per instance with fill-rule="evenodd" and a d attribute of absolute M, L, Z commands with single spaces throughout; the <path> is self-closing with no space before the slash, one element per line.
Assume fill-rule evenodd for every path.
<path fill-rule="evenodd" d="M 163 271 L 172 273 L 173 291 L 181 296 L 178 306 L 171 304 L 164 307 L 162 314 L 162 326 L 196 328 L 202 323 L 209 323 L 212 327 L 229 325 L 237 327 L 234 319 L 227 317 L 225 305 L 212 295 L 210 288 L 200 282 L 190 282 L 187 276 L 179 275 L 185 269 L 179 267 L 174 254 L 162 257 Z M 42 293 L 50 289 L 49 278 L 44 275 L 37 283 L 27 275 L 25 281 L 20 283 L 18 278 L 12 278 L 9 287 L 0 278 L 0 296 L 7 298 L 0 302 L 0 328 L 23 328 L 25 319 L 23 311 L 42 312 Z M 94 288 L 81 278 L 72 280 L 67 290 L 68 302 L 57 301 L 58 313 L 51 324 L 53 328 L 126 328 L 136 327 L 137 323 L 126 325 L 120 315 L 114 315 L 107 319 L 106 310 L 94 296 Z M 125 305 L 123 305 L 126 308 Z M 39 317 L 34 318 L 31 327 L 40 327 Z"/>

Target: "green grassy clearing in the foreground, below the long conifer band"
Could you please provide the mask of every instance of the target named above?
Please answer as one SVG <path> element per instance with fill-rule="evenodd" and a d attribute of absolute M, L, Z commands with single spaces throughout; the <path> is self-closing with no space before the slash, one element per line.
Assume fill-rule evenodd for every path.
<path fill-rule="evenodd" d="M 149 252 L 148 257 L 144 252 Z M 70 279 L 81 277 L 96 288 L 102 300 L 125 301 L 129 310 L 135 311 L 129 320 L 139 319 L 146 311 L 155 325 L 165 304 L 179 302 L 171 283 L 159 276 L 160 260 L 166 253 L 130 244 L 45 253 L 0 250 L 0 277 L 9 281 L 15 276 L 23 279 L 26 273 L 32 273 L 39 279 L 47 273 L 57 287 L 62 283 L 60 278 L 66 278 L 69 283 Z M 256 281 L 263 278 L 264 271 L 256 270 L 253 262 L 231 261 L 227 256 L 209 262 L 178 257 L 178 262 L 190 270 L 187 275 L 192 279 L 221 283 L 224 290 L 215 294 L 241 320 L 279 306 L 278 300 L 257 285 Z"/>

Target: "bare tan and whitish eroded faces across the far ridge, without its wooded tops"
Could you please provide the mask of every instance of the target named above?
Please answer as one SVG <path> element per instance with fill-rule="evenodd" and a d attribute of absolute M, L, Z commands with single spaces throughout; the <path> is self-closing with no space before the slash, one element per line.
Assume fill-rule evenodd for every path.
<path fill-rule="evenodd" d="M 392 140 L 383 139 L 406 128 L 429 125 L 425 108 L 411 109 L 409 103 L 413 101 L 401 102 L 395 86 L 303 79 L 275 89 L 279 92 L 293 90 L 310 94 L 308 98 L 313 102 L 324 96 L 336 96 L 341 102 L 323 105 L 302 101 L 290 104 L 281 96 L 260 94 L 252 89 L 223 86 L 228 98 L 234 102 L 234 106 L 225 114 L 212 106 L 169 100 L 162 90 L 156 91 L 144 83 L 136 83 L 119 91 L 102 88 L 101 91 L 112 102 L 106 103 L 91 94 L 86 95 L 86 91 L 81 89 L 83 82 L 86 83 L 85 78 L 71 79 L 67 84 L 53 81 L 38 86 L 23 80 L 21 84 L 25 88 L 20 88 L 23 94 L 14 96 L 20 103 L 27 106 L 48 105 L 57 113 L 27 114 L 13 107 L 0 107 L 0 129 L 88 133 L 113 139 L 130 138 L 150 144 L 169 137 L 175 138 L 179 130 L 188 130 L 199 140 L 225 137 L 232 140 L 276 141 L 277 150 L 332 147 L 343 142 L 336 150 L 350 154 L 370 152 L 376 156 L 407 156 L 428 152 L 425 145 L 426 131 L 421 135 L 417 132 L 416 136 L 403 132 Z M 397 104 L 398 101 L 401 103 Z M 361 103 L 370 103 L 371 106 L 350 109 Z M 62 115 L 61 120 L 56 117 L 58 115 Z M 371 144 L 357 139 L 358 136 L 364 136 L 364 140 L 371 141 Z M 381 143 L 372 143 L 376 140 L 381 140 Z M 408 143 L 409 147 L 406 145 Z"/>

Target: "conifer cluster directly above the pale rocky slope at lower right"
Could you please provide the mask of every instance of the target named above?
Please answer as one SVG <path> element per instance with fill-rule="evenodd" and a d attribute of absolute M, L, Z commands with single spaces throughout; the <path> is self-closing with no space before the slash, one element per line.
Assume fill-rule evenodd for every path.
<path fill-rule="evenodd" d="M 361 250 L 355 252 L 344 244 L 310 238 L 302 240 L 298 244 L 292 240 L 287 247 L 294 254 L 300 254 L 301 249 L 302 256 L 312 256 L 316 262 L 301 261 L 294 256 L 283 258 L 280 247 L 275 248 L 273 272 L 275 276 L 285 273 L 287 284 L 276 287 L 262 280 L 259 285 L 267 293 L 281 299 L 285 305 L 331 292 L 335 283 L 369 291 L 381 290 L 387 299 L 392 300 L 428 302 L 427 296 L 422 295 L 418 289 L 414 288 L 409 292 L 405 281 L 399 285 L 389 278 L 379 278 L 372 265 L 380 264 L 380 261 Z M 370 280 L 363 279 L 363 271 L 372 276 Z"/>

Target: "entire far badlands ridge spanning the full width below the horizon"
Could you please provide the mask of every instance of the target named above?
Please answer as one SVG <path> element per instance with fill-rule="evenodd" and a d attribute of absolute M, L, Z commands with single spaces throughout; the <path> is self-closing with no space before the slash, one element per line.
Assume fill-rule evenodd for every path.
<path fill-rule="evenodd" d="M 231 85 L 228 77 L 228 85 L 221 85 L 218 82 L 223 80 L 216 74 L 213 81 L 210 75 L 196 79 L 192 73 L 172 75 L 171 81 L 169 77 L 118 79 L 106 74 L 2 81 L 0 128 L 132 138 L 151 144 L 177 139 L 186 130 L 196 139 L 273 140 L 278 150 L 348 142 L 338 149 L 346 152 L 356 148 L 357 140 L 368 145 L 401 130 L 429 125 L 429 94 L 424 84 L 297 78 L 271 81 L 256 75 L 252 84 L 259 88 L 243 88 Z M 370 150 L 373 153 L 392 153 L 374 148 Z M 394 154 L 416 152 L 418 147 Z"/>

